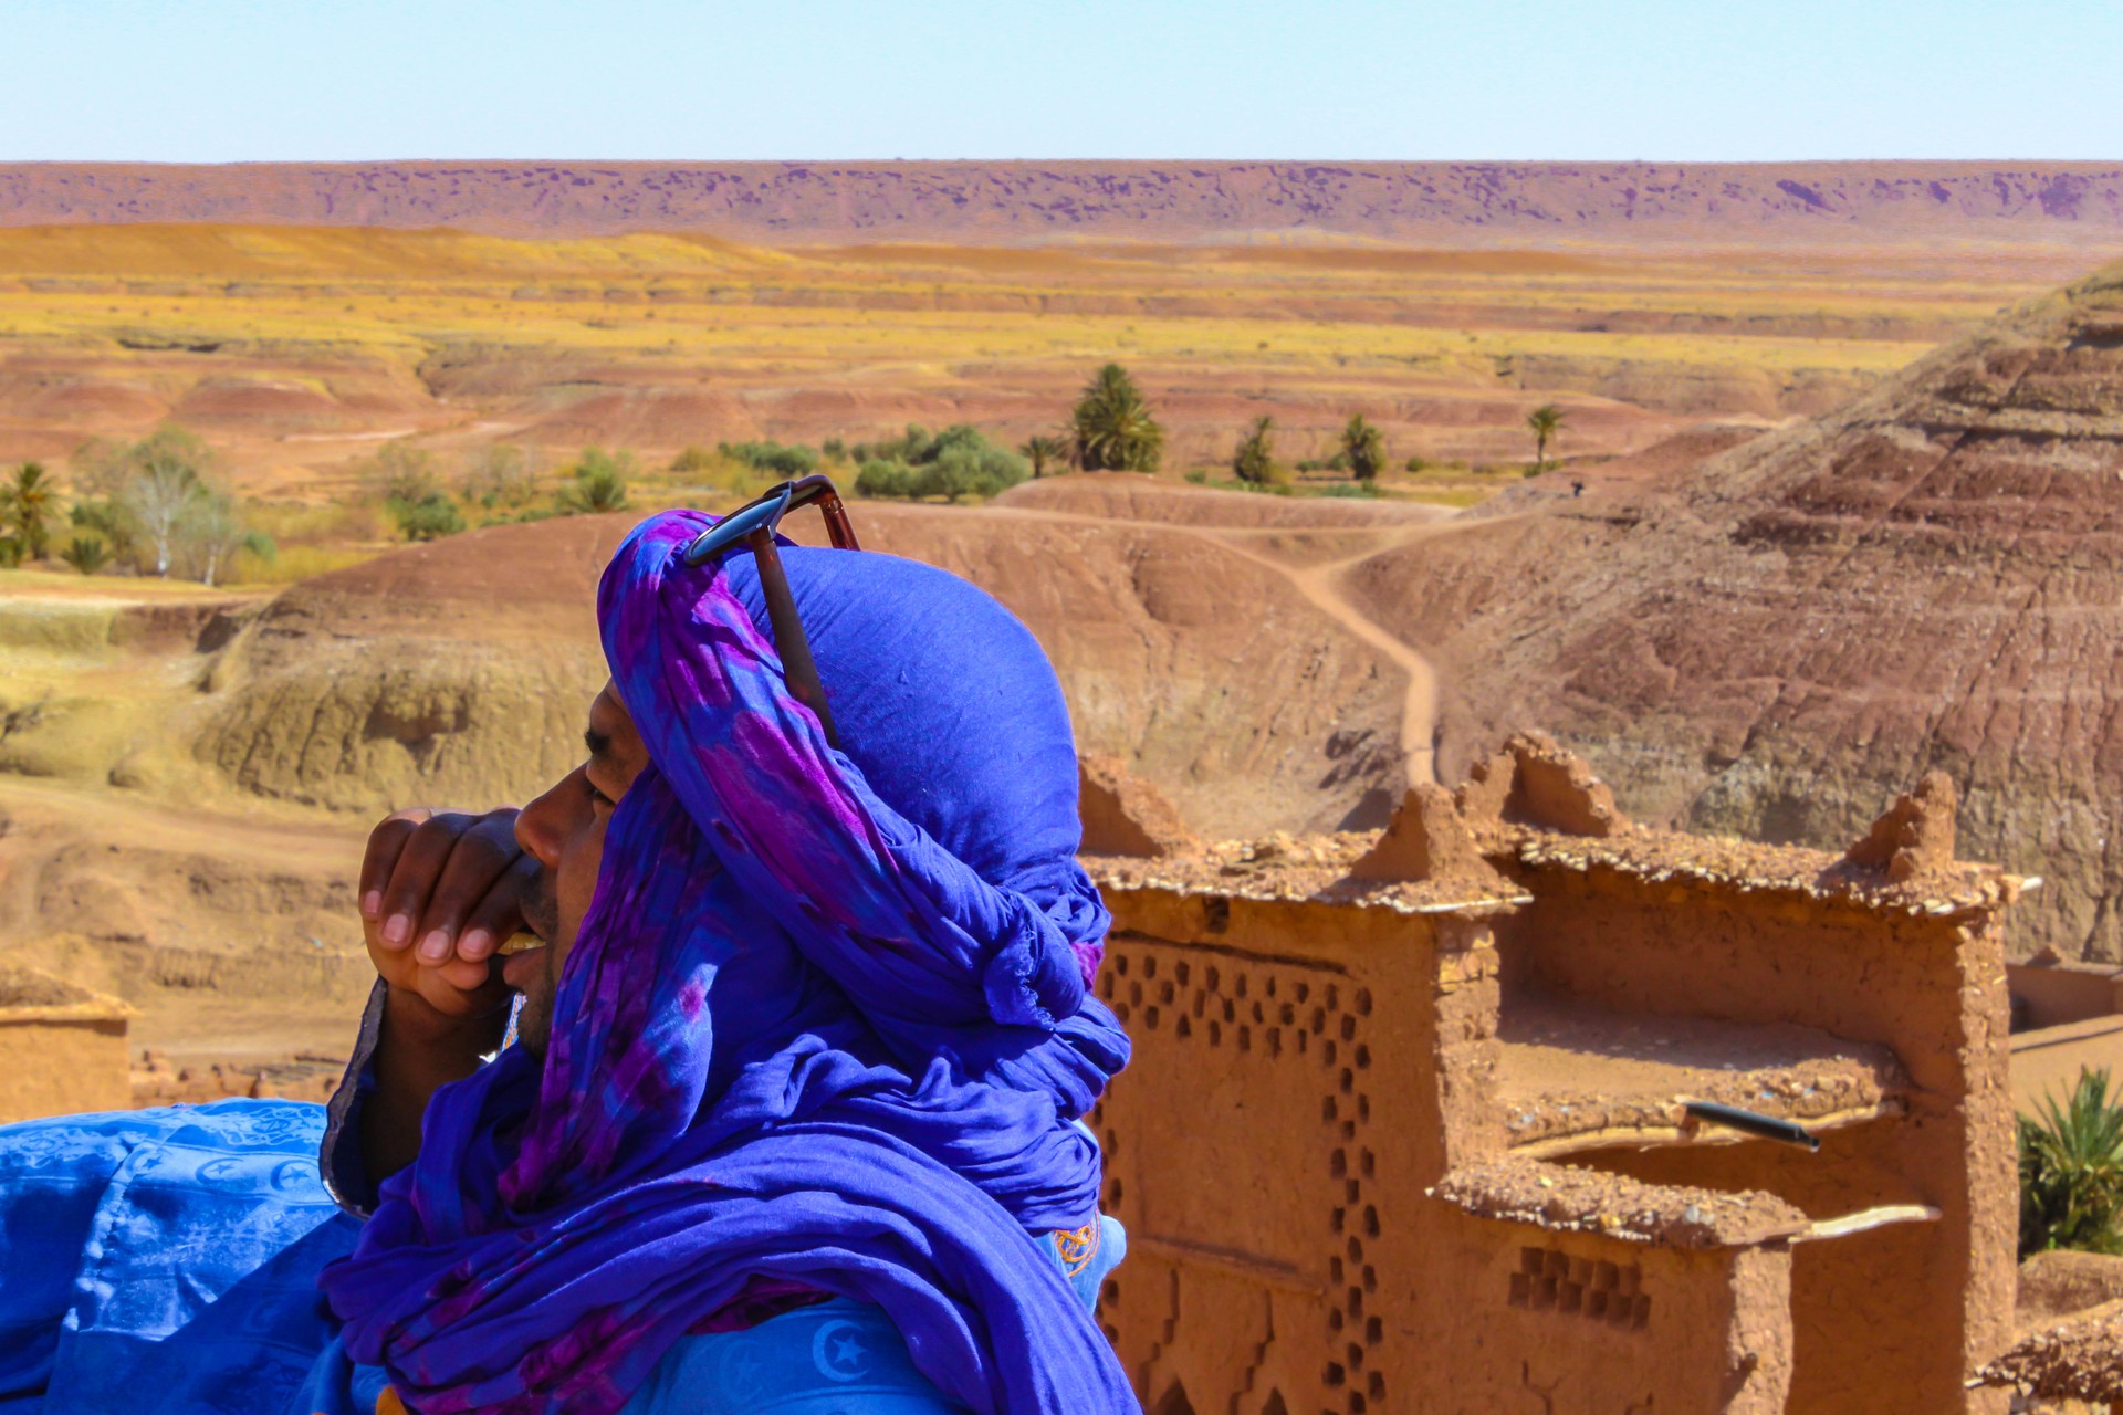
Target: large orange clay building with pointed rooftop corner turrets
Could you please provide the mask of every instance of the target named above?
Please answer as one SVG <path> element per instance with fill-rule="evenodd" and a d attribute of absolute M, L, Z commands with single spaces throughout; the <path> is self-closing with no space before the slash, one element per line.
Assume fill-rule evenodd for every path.
<path fill-rule="evenodd" d="M 1153 1415 L 2004 1411 L 2021 880 L 1943 776 L 1839 857 L 1522 736 L 1376 842 L 1093 863 Z"/>

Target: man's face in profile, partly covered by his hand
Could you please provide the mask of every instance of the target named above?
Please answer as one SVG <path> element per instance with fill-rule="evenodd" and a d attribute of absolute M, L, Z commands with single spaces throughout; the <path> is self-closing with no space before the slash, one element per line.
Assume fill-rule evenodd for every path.
<path fill-rule="evenodd" d="M 560 965 L 567 963 L 582 916 L 590 912 L 590 895 L 597 893 L 611 808 L 650 762 L 635 719 L 611 683 L 590 700 L 590 726 L 582 740 L 588 759 L 516 817 L 516 844 L 543 866 L 522 910 L 546 946 L 510 955 L 501 976 L 524 995 L 516 1035 L 539 1056 L 552 1040 L 552 997 L 560 986 Z"/>

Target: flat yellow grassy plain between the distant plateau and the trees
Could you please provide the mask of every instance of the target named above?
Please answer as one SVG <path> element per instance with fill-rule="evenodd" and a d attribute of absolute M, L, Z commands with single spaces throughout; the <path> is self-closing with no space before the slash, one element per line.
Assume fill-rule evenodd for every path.
<path fill-rule="evenodd" d="M 1051 431 L 1125 363 L 1172 469 L 1257 414 L 1321 454 L 1363 412 L 1399 462 L 1565 456 L 1703 418 L 1822 412 L 2057 278 L 2057 250 L 856 246 L 463 231 L 0 231 L 0 460 L 163 420 L 259 494 L 327 496 L 380 441 L 554 454 L 979 422 Z"/>

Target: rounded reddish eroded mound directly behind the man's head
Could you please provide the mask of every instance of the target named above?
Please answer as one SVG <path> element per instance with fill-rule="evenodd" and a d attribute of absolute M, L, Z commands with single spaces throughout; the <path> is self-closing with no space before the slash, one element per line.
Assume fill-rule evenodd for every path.
<path fill-rule="evenodd" d="M 1270 566 L 1157 526 L 856 518 L 866 547 L 1008 605 L 1053 658 L 1078 745 L 1185 819 L 1331 829 L 1382 823 L 1397 800 L 1401 675 Z M 246 791 L 340 810 L 527 800 L 582 755 L 605 681 L 597 575 L 633 520 L 471 532 L 287 590 L 217 664 L 195 755 Z"/>

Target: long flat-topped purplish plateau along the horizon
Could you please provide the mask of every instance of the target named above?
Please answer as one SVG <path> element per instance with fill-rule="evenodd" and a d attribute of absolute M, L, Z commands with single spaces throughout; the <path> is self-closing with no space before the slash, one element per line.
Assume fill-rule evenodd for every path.
<path fill-rule="evenodd" d="M 138 221 L 764 242 L 2112 242 L 2123 163 L 0 163 L 0 225 Z"/>

